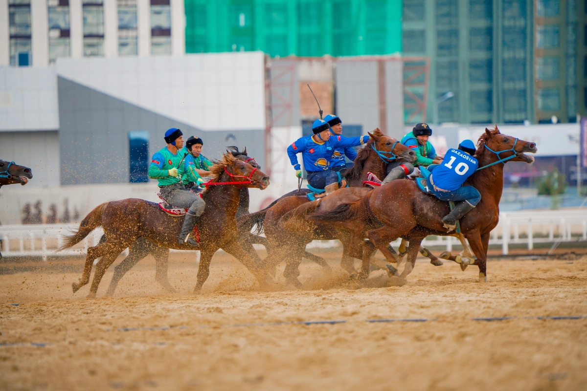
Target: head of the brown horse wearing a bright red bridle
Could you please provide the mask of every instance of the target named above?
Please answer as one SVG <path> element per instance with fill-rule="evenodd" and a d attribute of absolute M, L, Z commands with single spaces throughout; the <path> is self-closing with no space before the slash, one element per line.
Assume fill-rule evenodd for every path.
<path fill-rule="evenodd" d="M 248 162 L 235 158 L 231 153 L 224 154 L 222 160 L 210 168 L 215 178 L 211 182 L 235 182 L 234 185 L 247 188 L 266 189 L 269 176 Z M 221 181 L 224 177 L 227 181 Z M 238 182 L 243 182 L 239 185 Z"/>

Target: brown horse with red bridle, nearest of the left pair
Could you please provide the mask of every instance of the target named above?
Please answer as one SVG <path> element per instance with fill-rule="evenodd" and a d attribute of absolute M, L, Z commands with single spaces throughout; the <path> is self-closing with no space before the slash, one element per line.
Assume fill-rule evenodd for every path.
<path fill-rule="evenodd" d="M 215 178 L 207 191 L 202 193 L 206 210 L 198 222 L 201 257 L 194 293 L 200 293 L 210 274 L 212 256 L 220 248 L 235 256 L 257 277 L 259 283 L 264 284 L 265 273 L 258 269 L 255 259 L 238 244 L 235 214 L 241 186 L 265 189 L 269 185 L 269 177 L 250 164 L 235 159 L 231 154 L 225 154 L 222 161 L 212 166 L 210 171 Z M 177 243 L 181 224 L 181 219 L 168 216 L 157 203 L 141 199 L 129 198 L 97 206 L 82 220 L 77 232 L 68 237 L 62 247 L 66 249 L 79 243 L 100 225 L 106 234 L 106 242 L 87 250 L 82 278 L 79 283 L 72 284 L 73 293 L 89 282 L 93 261 L 102 257 L 96 264 L 96 273 L 88 295 L 95 297 L 107 268 L 138 237 L 170 249 L 197 250 L 188 244 Z"/>

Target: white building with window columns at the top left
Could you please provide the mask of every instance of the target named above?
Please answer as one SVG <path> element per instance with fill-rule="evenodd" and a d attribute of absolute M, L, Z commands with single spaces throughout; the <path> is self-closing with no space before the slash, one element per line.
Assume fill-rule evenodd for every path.
<path fill-rule="evenodd" d="M 185 53 L 183 0 L 0 0 L 0 66 Z"/>

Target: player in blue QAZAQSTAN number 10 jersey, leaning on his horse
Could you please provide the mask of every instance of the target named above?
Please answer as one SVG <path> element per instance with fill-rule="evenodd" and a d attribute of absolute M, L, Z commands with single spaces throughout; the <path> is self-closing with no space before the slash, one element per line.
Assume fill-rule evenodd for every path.
<path fill-rule="evenodd" d="M 454 230 L 458 220 L 481 200 L 481 194 L 473 186 L 461 186 L 477 169 L 475 151 L 473 141 L 464 140 L 458 144 L 458 149 L 448 149 L 441 164 L 429 166 L 434 195 L 443 201 L 463 201 L 442 219 L 448 232 Z"/>

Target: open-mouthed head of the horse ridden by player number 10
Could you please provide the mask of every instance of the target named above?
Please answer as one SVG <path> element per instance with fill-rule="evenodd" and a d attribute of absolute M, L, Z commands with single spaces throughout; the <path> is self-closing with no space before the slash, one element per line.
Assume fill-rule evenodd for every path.
<path fill-rule="evenodd" d="M 490 155 L 489 162 L 484 162 L 484 165 L 506 161 L 532 163 L 534 158 L 524 154 L 524 152 L 535 154 L 538 151 L 535 142 L 524 141 L 502 134 L 497 125 L 495 125 L 494 130 L 485 128 L 485 133 L 479 137 L 477 147 L 475 156 L 480 159 L 480 165 L 481 157 L 487 155 L 485 151 L 492 153 L 488 154 Z"/>

